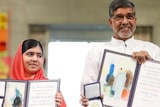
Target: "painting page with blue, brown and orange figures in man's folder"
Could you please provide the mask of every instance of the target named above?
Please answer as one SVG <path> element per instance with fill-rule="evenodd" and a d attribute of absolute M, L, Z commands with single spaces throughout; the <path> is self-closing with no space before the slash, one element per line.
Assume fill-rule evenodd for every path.
<path fill-rule="evenodd" d="M 127 107 L 138 63 L 130 55 L 104 50 L 98 80 L 104 95 L 103 104 Z"/>

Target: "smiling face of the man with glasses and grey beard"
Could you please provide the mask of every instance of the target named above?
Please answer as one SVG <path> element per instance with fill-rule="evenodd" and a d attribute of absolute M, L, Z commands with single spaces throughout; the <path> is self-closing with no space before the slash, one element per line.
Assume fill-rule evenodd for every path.
<path fill-rule="evenodd" d="M 136 17 L 132 8 L 118 8 L 109 19 L 114 37 L 120 40 L 131 38 L 136 29 Z"/>

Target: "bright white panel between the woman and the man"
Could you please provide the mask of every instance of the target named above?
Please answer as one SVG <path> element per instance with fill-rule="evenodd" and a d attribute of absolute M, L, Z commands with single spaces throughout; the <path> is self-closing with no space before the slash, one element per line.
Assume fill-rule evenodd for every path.
<path fill-rule="evenodd" d="M 61 91 L 67 107 L 81 107 L 80 81 L 88 50 L 99 43 L 50 42 L 48 46 L 48 78 L 61 79 Z"/>

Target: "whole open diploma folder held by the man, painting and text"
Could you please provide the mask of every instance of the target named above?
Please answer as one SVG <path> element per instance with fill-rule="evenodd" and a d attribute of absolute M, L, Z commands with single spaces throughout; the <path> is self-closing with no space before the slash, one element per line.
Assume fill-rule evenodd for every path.
<path fill-rule="evenodd" d="M 159 61 L 139 64 L 130 55 L 105 49 L 98 76 L 105 107 L 159 105 L 159 77 Z"/>

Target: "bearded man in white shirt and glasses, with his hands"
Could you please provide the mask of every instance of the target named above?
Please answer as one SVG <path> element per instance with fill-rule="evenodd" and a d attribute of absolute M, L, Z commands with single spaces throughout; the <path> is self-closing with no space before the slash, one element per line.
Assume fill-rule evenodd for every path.
<path fill-rule="evenodd" d="M 81 104 L 88 106 L 83 95 L 83 85 L 96 82 L 104 49 L 132 55 L 140 64 L 146 59 L 160 60 L 160 48 L 151 43 L 134 39 L 136 30 L 135 6 L 129 0 L 113 0 L 109 6 L 109 25 L 114 35 L 110 42 L 93 47 L 87 55 L 81 81 Z"/>

